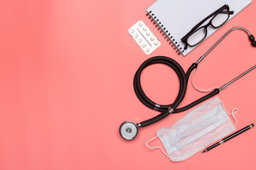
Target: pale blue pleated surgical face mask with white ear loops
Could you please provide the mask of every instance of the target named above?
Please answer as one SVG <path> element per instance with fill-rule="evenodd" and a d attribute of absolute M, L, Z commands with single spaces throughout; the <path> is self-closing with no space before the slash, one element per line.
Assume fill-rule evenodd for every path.
<path fill-rule="evenodd" d="M 234 113 L 235 109 L 230 113 L 233 118 L 237 112 Z M 161 147 L 149 147 L 148 142 L 156 137 L 147 141 L 146 146 L 161 149 L 173 162 L 180 162 L 234 130 L 222 102 L 215 97 L 183 116 L 171 128 L 161 128 L 156 132 L 167 153 Z"/>

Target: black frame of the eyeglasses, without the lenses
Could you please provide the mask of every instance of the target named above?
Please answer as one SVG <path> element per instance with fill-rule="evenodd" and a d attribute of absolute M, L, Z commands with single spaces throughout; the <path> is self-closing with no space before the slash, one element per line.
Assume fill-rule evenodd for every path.
<path fill-rule="evenodd" d="M 204 38 L 202 38 L 201 41 L 199 41 L 198 43 L 196 43 L 195 45 L 189 45 L 190 47 L 193 47 L 193 46 L 196 46 L 198 45 L 199 43 L 201 43 L 207 36 L 207 28 L 208 26 L 212 26 L 213 28 L 220 28 L 221 26 L 223 26 L 227 21 L 228 21 L 228 18 L 225 22 L 223 22 L 223 24 L 221 24 L 220 26 L 218 27 L 215 27 L 213 26 L 213 19 L 218 16 L 219 13 L 221 13 L 224 9 L 227 9 L 229 11 L 228 13 L 228 18 L 230 18 L 230 14 L 232 15 L 234 13 L 234 11 L 230 11 L 230 8 L 227 4 L 221 6 L 220 8 L 218 8 L 216 11 L 214 11 L 213 13 L 211 13 L 209 16 L 207 16 L 206 18 L 204 18 L 200 23 L 196 24 L 196 26 L 194 26 L 185 36 L 183 36 L 183 38 L 181 38 L 181 42 L 185 43 L 185 47 L 184 47 L 184 50 L 187 49 L 188 47 L 188 38 L 193 35 L 193 33 L 196 33 L 196 31 L 200 30 L 201 28 L 204 28 L 204 30 L 206 31 L 206 35 Z M 205 25 L 205 26 L 201 26 L 202 23 L 206 22 L 208 20 L 208 18 L 210 17 L 213 17 L 210 19 L 210 21 Z M 201 26 L 201 27 L 199 27 Z M 199 27 L 199 28 L 198 28 Z"/>

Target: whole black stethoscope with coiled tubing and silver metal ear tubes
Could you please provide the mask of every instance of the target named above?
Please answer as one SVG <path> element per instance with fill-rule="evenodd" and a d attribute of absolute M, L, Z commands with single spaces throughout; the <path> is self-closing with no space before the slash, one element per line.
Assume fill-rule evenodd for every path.
<path fill-rule="evenodd" d="M 177 108 L 178 105 L 181 103 L 181 101 L 183 101 L 183 98 L 186 94 L 188 79 L 189 79 L 193 69 L 196 69 L 198 67 L 198 64 L 203 60 L 203 58 L 206 57 L 206 55 L 208 55 L 208 53 L 211 50 L 213 50 L 213 48 L 216 47 L 216 45 L 218 45 L 218 43 L 220 43 L 220 41 L 223 40 L 223 38 L 225 38 L 233 30 L 244 30 L 245 33 L 247 33 L 249 35 L 249 40 L 252 42 L 252 46 L 256 47 L 255 38 L 253 37 L 253 35 L 251 35 L 249 33 L 248 30 L 246 30 L 245 28 L 242 28 L 242 27 L 235 27 L 235 28 L 232 28 L 232 29 L 228 30 L 228 32 L 225 33 L 225 35 L 223 35 L 223 37 L 220 38 L 220 40 L 218 40 L 218 42 L 216 42 L 215 45 L 213 45 L 213 47 L 211 47 L 210 50 L 208 50 L 206 52 L 206 54 L 204 54 L 202 57 L 200 57 L 196 63 L 193 63 L 191 65 L 191 67 L 188 68 L 188 71 L 186 72 L 186 74 L 185 74 L 184 70 L 182 69 L 181 65 L 178 64 L 178 62 L 176 62 L 175 60 L 172 60 L 169 57 L 156 56 L 156 57 L 151 57 L 148 60 L 146 60 L 145 62 L 143 62 L 142 65 L 137 70 L 135 76 L 134 76 L 134 91 L 135 91 L 135 94 L 137 95 L 139 100 L 145 106 L 147 106 L 148 108 L 154 109 L 156 111 L 159 111 L 161 113 L 159 115 L 156 115 L 154 118 L 150 118 L 149 120 L 145 120 L 141 123 L 134 123 L 132 121 L 125 121 L 124 123 L 122 123 L 122 125 L 120 125 L 120 128 L 119 128 L 120 135 L 125 140 L 133 140 L 135 137 L 137 137 L 139 129 L 144 128 L 147 125 L 151 125 L 152 123 L 156 123 L 159 120 L 161 120 L 163 118 L 166 118 L 166 116 L 171 114 L 171 113 L 180 113 L 180 112 L 186 111 L 189 108 L 192 108 L 193 106 L 196 106 L 199 103 L 201 103 L 203 101 L 206 101 L 208 98 L 211 98 L 211 97 L 215 96 L 216 94 L 219 94 L 220 91 L 222 91 L 223 89 L 226 89 L 234 81 L 240 79 L 245 74 L 251 72 L 252 69 L 255 69 L 256 65 L 253 66 L 252 68 L 248 69 L 246 72 L 240 74 L 238 77 L 235 77 L 235 79 L 229 81 L 227 84 L 221 86 L 219 89 L 213 89 L 213 91 L 210 92 L 210 94 L 207 94 L 206 96 L 203 96 L 202 98 L 199 98 L 198 100 L 194 101 L 193 103 L 188 104 L 188 106 L 184 106 L 183 108 Z M 178 96 L 176 97 L 176 100 L 174 101 L 174 103 L 169 104 L 169 105 L 159 105 L 157 103 L 154 103 L 154 101 L 151 101 L 146 96 L 146 94 L 144 94 L 144 91 L 142 90 L 142 86 L 140 84 L 140 77 L 141 77 L 141 74 L 142 74 L 142 70 L 145 69 L 146 67 L 148 67 L 151 64 L 166 64 L 169 67 L 171 67 L 172 69 L 174 69 L 174 71 L 176 72 L 176 74 L 178 76 L 179 83 L 180 83 L 180 89 L 178 91 Z"/>

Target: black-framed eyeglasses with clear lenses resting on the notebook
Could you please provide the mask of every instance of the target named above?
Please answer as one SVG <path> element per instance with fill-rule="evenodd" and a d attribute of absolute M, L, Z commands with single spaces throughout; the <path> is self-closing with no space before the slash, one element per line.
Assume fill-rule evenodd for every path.
<path fill-rule="evenodd" d="M 196 26 L 194 26 L 183 38 L 181 38 L 181 41 L 185 43 L 184 50 L 188 48 L 188 45 L 193 47 L 202 42 L 206 38 L 208 26 L 212 26 L 213 28 L 223 26 L 223 24 L 228 21 L 230 14 L 232 15 L 233 13 L 234 11 L 230 11 L 229 6 L 225 4 L 204 18 L 200 23 L 196 24 Z M 213 18 L 210 19 L 209 23 L 207 23 L 205 26 L 201 26 L 210 17 Z"/>

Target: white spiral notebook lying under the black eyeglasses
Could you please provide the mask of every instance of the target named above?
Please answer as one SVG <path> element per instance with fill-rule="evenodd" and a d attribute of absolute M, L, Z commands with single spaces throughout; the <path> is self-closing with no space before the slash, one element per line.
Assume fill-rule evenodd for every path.
<path fill-rule="evenodd" d="M 146 12 L 149 19 L 165 36 L 169 44 L 174 47 L 178 55 L 186 56 L 198 46 L 188 46 L 187 50 L 183 50 L 184 44 L 181 42 L 181 38 L 193 26 L 196 26 L 203 18 L 225 4 L 228 4 L 230 11 L 234 11 L 234 14 L 230 15 L 230 20 L 251 2 L 251 0 L 158 0 L 149 6 Z M 206 38 L 216 30 L 218 28 L 215 29 L 209 26 Z"/>

